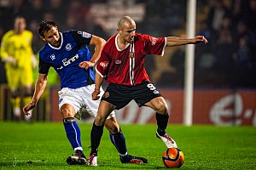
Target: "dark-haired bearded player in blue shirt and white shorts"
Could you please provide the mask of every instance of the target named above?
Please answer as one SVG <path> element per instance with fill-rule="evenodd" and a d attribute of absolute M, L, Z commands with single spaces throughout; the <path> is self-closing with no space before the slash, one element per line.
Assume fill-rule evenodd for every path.
<path fill-rule="evenodd" d="M 44 20 L 38 26 L 40 38 L 47 42 L 39 52 L 38 80 L 32 101 L 23 107 L 24 114 L 37 105 L 38 99 L 44 93 L 47 83 L 49 67 L 54 67 L 61 78 L 59 91 L 59 109 L 63 118 L 63 125 L 67 139 L 73 147 L 74 155 L 67 157 L 67 163 L 85 164 L 86 158 L 80 139 L 80 129 L 75 117 L 79 110 L 85 107 L 91 116 L 96 117 L 100 100 L 93 100 L 91 93 L 95 89 L 95 72 L 93 66 L 99 59 L 105 40 L 86 31 L 59 32 L 52 20 Z M 87 45 L 95 45 L 91 56 Z M 104 94 L 102 88 L 100 95 Z M 119 152 L 122 163 L 147 163 L 143 157 L 131 156 L 127 153 L 125 137 L 119 127 L 114 112 L 108 116 L 105 123 L 110 139 Z M 97 166 L 96 156 L 90 155 L 90 166 Z"/>

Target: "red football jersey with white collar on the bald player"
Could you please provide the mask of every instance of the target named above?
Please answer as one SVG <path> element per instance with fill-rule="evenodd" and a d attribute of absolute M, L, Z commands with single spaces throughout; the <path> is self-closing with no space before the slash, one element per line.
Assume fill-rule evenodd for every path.
<path fill-rule="evenodd" d="M 147 54 L 158 54 L 163 56 L 166 47 L 165 37 L 151 37 L 137 34 L 134 42 L 119 49 L 117 37 L 114 35 L 108 39 L 102 55 L 96 65 L 96 71 L 106 82 L 122 85 L 137 85 L 143 80 L 148 80 L 148 74 L 144 67 L 144 58 Z"/>

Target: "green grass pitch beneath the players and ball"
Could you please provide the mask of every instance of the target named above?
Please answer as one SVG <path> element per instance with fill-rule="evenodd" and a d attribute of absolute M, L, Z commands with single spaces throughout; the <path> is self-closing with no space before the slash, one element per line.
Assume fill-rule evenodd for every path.
<path fill-rule="evenodd" d="M 91 124 L 79 123 L 85 155 L 90 153 Z M 73 154 L 62 123 L 0 122 L 0 169 L 166 169 L 166 145 L 155 138 L 156 125 L 122 125 L 128 151 L 148 164 L 122 164 L 104 128 L 98 167 L 67 165 Z M 180 169 L 255 169 L 256 127 L 169 125 L 166 130 L 183 150 Z"/>

